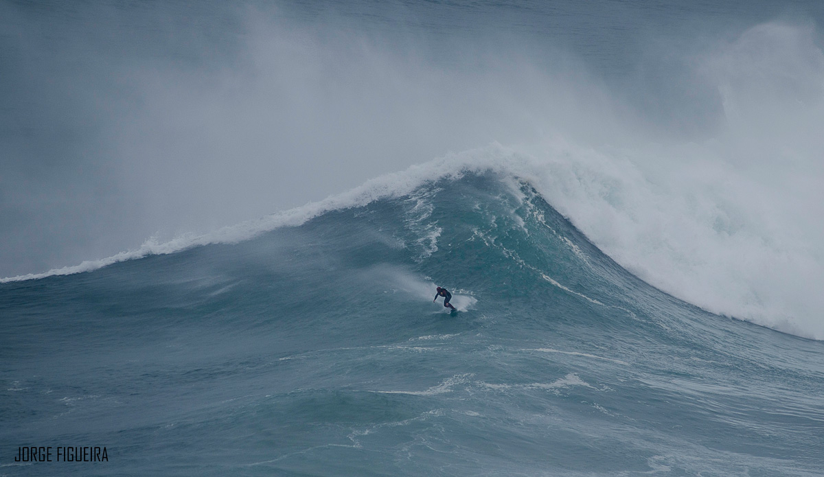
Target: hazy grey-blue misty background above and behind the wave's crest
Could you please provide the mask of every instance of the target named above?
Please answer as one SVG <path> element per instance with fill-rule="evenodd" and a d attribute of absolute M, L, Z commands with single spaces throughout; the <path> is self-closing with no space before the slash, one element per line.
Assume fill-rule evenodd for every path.
<path fill-rule="evenodd" d="M 0 2 L 0 276 L 493 142 L 722 131 L 734 158 L 775 144 L 761 115 L 820 173 L 820 109 L 794 105 L 820 96 L 821 4 L 756 3 Z"/>

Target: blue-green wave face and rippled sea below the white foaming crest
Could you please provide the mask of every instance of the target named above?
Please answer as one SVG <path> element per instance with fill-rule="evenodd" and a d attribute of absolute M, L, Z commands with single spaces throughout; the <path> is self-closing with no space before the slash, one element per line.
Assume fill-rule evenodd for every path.
<path fill-rule="evenodd" d="M 2 474 L 820 475 L 822 344 L 651 287 L 537 190 L 466 173 L 0 284 Z"/>

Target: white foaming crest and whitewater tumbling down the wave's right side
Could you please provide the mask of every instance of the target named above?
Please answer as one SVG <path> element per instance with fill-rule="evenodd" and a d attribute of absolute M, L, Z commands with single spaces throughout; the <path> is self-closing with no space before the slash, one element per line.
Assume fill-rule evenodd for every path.
<path fill-rule="evenodd" d="M 824 339 L 817 313 L 824 309 L 824 298 L 813 289 L 824 282 L 824 254 L 814 246 L 814 236 L 795 227 L 792 216 L 783 217 L 780 203 L 751 200 L 752 194 L 742 190 L 752 186 L 746 175 L 708 169 L 705 162 L 693 165 L 697 169 L 684 166 L 681 174 L 661 175 L 639 166 L 643 159 L 630 161 L 620 152 L 569 143 L 547 144 L 541 155 L 493 143 L 259 220 L 163 243 L 149 240 L 102 260 L 0 282 L 77 274 L 147 255 L 236 243 L 330 211 L 407 196 L 438 180 L 493 173 L 522 200 L 527 198 L 519 183 L 534 187 L 606 255 L 653 286 L 716 314 Z"/>

